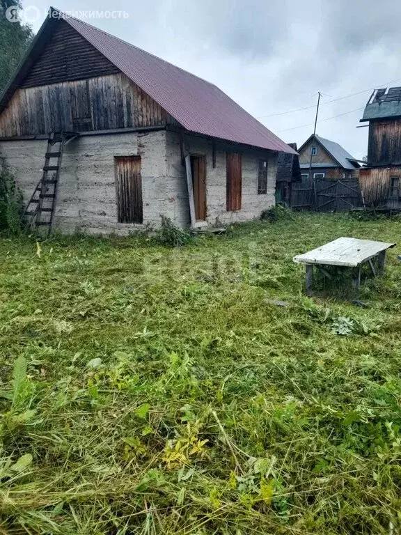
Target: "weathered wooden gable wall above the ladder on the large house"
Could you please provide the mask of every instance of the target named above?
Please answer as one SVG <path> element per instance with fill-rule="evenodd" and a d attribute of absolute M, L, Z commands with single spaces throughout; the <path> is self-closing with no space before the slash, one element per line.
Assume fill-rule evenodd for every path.
<path fill-rule="evenodd" d="M 7 107 L 0 137 L 164 126 L 173 119 L 64 20 Z"/>

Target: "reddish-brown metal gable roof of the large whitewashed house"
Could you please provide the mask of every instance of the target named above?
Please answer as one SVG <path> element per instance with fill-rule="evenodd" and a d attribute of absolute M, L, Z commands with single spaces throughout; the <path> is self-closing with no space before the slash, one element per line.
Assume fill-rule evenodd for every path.
<path fill-rule="evenodd" d="M 214 84 L 55 8 L 50 8 L 49 12 L 52 16 L 49 15 L 42 24 L 17 75 L 1 95 L 0 113 L 27 74 L 31 66 L 30 54 L 38 54 L 38 47 L 42 49 L 44 46 L 47 27 L 62 18 L 190 132 L 295 153 Z"/>

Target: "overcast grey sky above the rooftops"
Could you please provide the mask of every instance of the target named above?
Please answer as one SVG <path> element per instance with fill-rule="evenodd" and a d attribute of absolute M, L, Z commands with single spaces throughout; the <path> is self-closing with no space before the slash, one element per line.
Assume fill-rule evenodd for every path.
<path fill-rule="evenodd" d="M 48 1 L 24 0 L 42 14 L 35 31 Z M 54 7 L 125 10 L 127 18 L 86 22 L 217 84 L 298 146 L 313 132 L 315 107 L 281 113 L 314 106 L 321 91 L 320 121 L 345 115 L 317 123 L 317 134 L 363 157 L 368 129 L 356 128 L 363 109 L 352 110 L 375 87 L 401 86 L 398 0 L 57 0 Z"/>

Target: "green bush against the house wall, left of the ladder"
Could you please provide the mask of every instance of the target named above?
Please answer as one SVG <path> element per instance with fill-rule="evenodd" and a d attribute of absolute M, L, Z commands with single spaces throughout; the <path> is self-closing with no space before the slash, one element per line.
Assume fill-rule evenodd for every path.
<path fill-rule="evenodd" d="M 0 160 L 0 231 L 18 234 L 23 211 L 22 193 L 15 185 L 13 173 L 6 162 Z"/>

